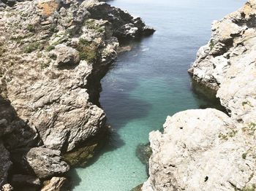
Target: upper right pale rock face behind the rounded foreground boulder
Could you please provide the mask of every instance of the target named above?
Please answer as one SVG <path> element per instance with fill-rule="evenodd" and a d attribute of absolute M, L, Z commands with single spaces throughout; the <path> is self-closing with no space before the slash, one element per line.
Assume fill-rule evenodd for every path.
<path fill-rule="evenodd" d="M 232 117 L 249 124 L 256 112 L 256 1 L 212 25 L 211 40 L 197 52 L 189 71 L 197 82 L 217 90 Z"/>

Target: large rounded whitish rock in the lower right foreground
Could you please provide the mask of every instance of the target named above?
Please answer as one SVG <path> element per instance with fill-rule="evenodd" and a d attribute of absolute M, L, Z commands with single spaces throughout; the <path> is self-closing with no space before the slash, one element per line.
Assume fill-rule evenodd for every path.
<path fill-rule="evenodd" d="M 251 133 L 216 109 L 188 110 L 167 117 L 164 133 L 150 133 L 150 177 L 142 190 L 253 187 L 256 135 Z"/>

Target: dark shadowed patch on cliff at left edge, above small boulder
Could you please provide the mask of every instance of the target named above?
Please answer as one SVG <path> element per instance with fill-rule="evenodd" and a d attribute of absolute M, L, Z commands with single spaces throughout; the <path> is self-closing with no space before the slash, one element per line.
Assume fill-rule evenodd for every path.
<path fill-rule="evenodd" d="M 34 171 L 23 160 L 23 156 L 31 147 L 37 145 L 39 139 L 36 134 L 26 121 L 18 117 L 10 101 L 0 95 L 0 141 L 3 141 L 4 147 L 10 152 L 10 160 L 12 161 L 12 167 L 9 171 L 7 169 L 9 181 L 12 174 L 34 175 Z M 18 187 L 20 188 L 20 185 L 12 184 L 12 186 L 16 187 L 17 190 Z"/>

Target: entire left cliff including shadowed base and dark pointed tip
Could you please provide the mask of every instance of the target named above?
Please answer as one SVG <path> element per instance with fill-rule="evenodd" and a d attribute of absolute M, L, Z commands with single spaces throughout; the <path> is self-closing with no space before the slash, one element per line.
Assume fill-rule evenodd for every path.
<path fill-rule="evenodd" d="M 56 187 L 64 178 L 51 177 L 91 157 L 118 39 L 153 32 L 105 2 L 0 1 L 0 186 Z"/>

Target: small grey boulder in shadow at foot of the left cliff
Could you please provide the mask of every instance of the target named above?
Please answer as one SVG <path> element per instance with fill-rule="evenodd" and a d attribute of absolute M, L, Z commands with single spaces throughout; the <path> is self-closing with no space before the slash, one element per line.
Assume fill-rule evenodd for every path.
<path fill-rule="evenodd" d="M 45 179 L 69 171 L 69 165 L 60 154 L 58 150 L 37 147 L 29 150 L 25 160 L 39 179 Z"/>

